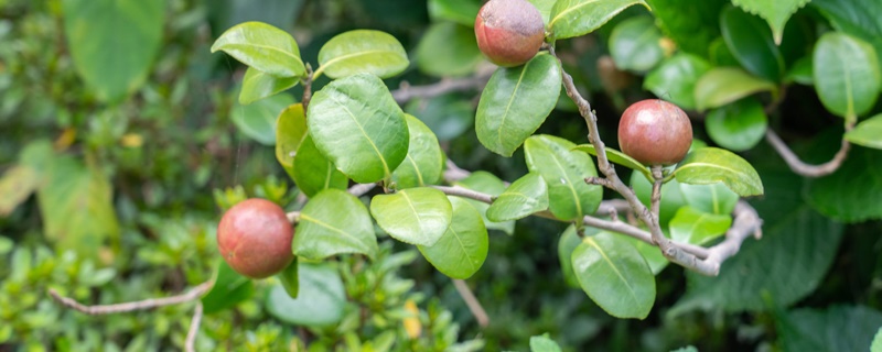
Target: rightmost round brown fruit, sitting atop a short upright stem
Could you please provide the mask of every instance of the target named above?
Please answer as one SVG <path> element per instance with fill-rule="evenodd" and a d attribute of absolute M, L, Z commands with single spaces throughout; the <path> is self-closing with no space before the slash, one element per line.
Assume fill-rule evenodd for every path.
<path fill-rule="evenodd" d="M 679 163 L 692 144 L 692 124 L 679 107 L 647 99 L 625 109 L 619 121 L 622 152 L 645 165 Z"/>

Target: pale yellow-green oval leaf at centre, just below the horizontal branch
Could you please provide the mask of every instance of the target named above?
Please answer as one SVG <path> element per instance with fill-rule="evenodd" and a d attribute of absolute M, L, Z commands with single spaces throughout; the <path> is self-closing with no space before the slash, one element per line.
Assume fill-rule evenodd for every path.
<path fill-rule="evenodd" d="M 378 195 L 370 201 L 377 224 L 394 239 L 432 246 L 450 227 L 452 206 L 444 193 L 428 187 Z"/>

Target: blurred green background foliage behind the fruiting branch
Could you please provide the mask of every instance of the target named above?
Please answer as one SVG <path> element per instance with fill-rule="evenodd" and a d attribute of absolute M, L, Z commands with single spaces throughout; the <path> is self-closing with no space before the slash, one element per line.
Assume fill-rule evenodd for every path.
<path fill-rule="evenodd" d="M 477 1 L 459 2 L 477 10 Z M 90 317 L 54 304 L 46 289 L 88 304 L 181 293 L 214 275 L 218 204 L 246 195 L 282 205 L 295 199 L 271 146 L 278 110 L 239 106 L 244 67 L 209 54 L 227 28 L 259 20 L 288 30 L 310 63 L 337 33 L 386 31 L 416 55 L 404 75 L 387 80 L 391 88 L 470 75 L 484 65 L 465 28 L 473 16 L 445 12 L 443 6 L 456 1 L 123 1 L 128 12 L 120 13 L 131 18 L 89 21 L 115 14 L 101 12 L 107 3 L 0 0 L 0 350 L 181 349 L 192 304 Z M 691 15 L 717 22 L 719 7 L 700 11 Z M 594 34 L 559 43 L 567 69 L 601 117 L 602 135 L 614 135 L 614 117 L 630 102 L 652 97 L 642 89 L 643 73 L 616 69 L 607 48 L 619 23 L 647 13 L 630 8 Z M 800 10 L 794 22 L 829 30 L 818 8 Z M 430 42 L 437 37 L 455 40 Z M 439 48 L 461 56 L 438 55 Z M 93 59 L 101 52 L 116 58 Z M 314 89 L 324 84 L 321 78 Z M 298 86 L 281 97 L 292 101 L 301 92 Z M 480 146 L 471 120 L 475 97 L 450 94 L 405 108 L 432 128 L 461 167 L 514 180 L 526 172 L 523 152 L 502 158 Z M 538 133 L 584 142 L 587 129 L 571 102 L 558 108 Z M 819 111 L 811 87 L 794 86 L 774 127 L 808 158 L 826 161 L 841 128 Z M 703 121 L 695 123 L 697 138 L 707 141 Z M 862 153 L 872 157 L 856 151 Z M 269 279 L 233 309 L 206 315 L 197 349 L 277 351 L 309 342 L 315 351 L 524 351 L 531 336 L 545 332 L 568 351 L 865 349 L 864 337 L 882 326 L 882 223 L 841 224 L 818 215 L 806 204 L 806 182 L 764 143 L 742 155 L 766 186 L 767 195 L 754 202 L 766 219 L 766 239 L 745 243 L 733 258 L 741 276 L 663 271 L 646 320 L 614 319 L 568 286 L 557 254 L 566 224 L 526 219 L 514 231 L 491 232 L 487 261 L 469 279 L 490 315 L 486 328 L 448 277 L 412 249 L 381 239 L 376 263 L 344 256 L 330 266 L 346 293 L 340 324 L 280 319 L 271 311 L 279 285 Z M 756 280 L 745 287 L 763 289 L 739 292 L 745 277 Z M 401 309 L 419 312 L 420 338 L 406 328 L 411 316 Z M 831 340 L 807 340 L 813 336 Z"/>

